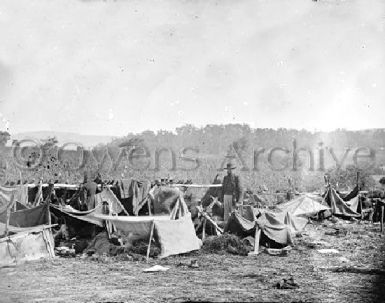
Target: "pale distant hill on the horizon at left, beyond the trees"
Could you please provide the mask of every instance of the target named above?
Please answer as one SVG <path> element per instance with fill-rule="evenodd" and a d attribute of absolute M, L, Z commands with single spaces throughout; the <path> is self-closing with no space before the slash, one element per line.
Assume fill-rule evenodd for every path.
<path fill-rule="evenodd" d="M 113 136 L 98 136 L 98 135 L 82 135 L 78 133 L 67 133 L 67 132 L 56 132 L 56 131 L 32 131 L 32 132 L 23 132 L 17 134 L 11 134 L 11 140 L 22 140 L 22 139 L 47 139 L 48 137 L 56 137 L 59 141 L 59 145 L 76 142 L 81 143 L 85 147 L 93 147 L 98 144 L 106 144 L 111 142 L 116 137 Z"/>

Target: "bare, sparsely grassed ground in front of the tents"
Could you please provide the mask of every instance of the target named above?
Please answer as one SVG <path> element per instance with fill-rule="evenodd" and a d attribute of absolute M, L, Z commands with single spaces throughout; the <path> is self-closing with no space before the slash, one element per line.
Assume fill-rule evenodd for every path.
<path fill-rule="evenodd" d="M 339 233 L 332 235 L 335 228 Z M 282 257 L 195 252 L 150 264 L 113 258 L 30 262 L 0 269 L 0 302 L 385 302 L 378 225 L 309 224 L 296 240 L 296 248 Z M 339 253 L 321 254 L 320 248 Z M 188 266 L 192 259 L 199 268 Z M 142 271 L 155 264 L 170 269 Z M 366 270 L 335 272 L 343 267 Z M 290 275 L 298 289 L 275 288 Z"/>

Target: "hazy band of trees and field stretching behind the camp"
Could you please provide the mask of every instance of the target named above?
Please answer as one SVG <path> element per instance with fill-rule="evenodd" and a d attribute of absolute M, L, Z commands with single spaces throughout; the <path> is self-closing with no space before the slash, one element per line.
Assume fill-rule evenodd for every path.
<path fill-rule="evenodd" d="M 9 133 L 0 132 L 0 146 L 5 146 L 9 139 Z M 300 153 L 298 159 L 295 159 L 295 163 L 292 157 L 294 140 L 298 150 L 307 148 Z M 41 140 L 39 146 L 16 150 L 21 153 L 17 155 L 19 156 L 19 162 L 25 165 L 22 168 L 23 176 L 34 179 L 40 177 L 46 180 L 65 178 L 70 182 L 78 182 L 81 180 L 84 170 L 89 170 L 92 173 L 101 172 L 104 178 L 114 179 L 122 176 L 136 176 L 138 178 L 153 179 L 170 174 L 174 178 L 188 178 L 193 179 L 195 182 L 204 183 L 212 181 L 229 150 L 232 150 L 242 156 L 249 168 L 240 171 L 245 187 L 253 189 L 265 185 L 271 191 L 276 191 L 287 188 L 289 186 L 287 180 L 290 178 L 295 187 L 300 190 L 316 190 L 322 188 L 325 173 L 325 171 L 319 170 L 320 163 L 317 159 L 320 154 L 320 142 L 323 143 L 322 147 L 324 148 L 325 168 L 334 166 L 328 173 L 331 175 L 331 181 L 335 184 L 338 183 L 340 187 L 354 186 L 358 170 L 361 172 L 361 179 L 365 186 L 370 186 L 372 184 L 370 174 L 378 173 L 381 171 L 379 169 L 381 164 L 385 164 L 385 131 L 382 129 L 369 131 L 339 129 L 327 133 L 285 128 L 278 130 L 270 128 L 252 129 L 246 124 L 209 124 L 204 127 L 186 124 L 178 127 L 175 132 L 147 130 L 138 134 L 129 133 L 124 137 L 114 139 L 108 144 L 99 144 L 92 150 L 85 150 L 84 152 L 79 148 L 62 152 L 57 139 L 54 137 Z M 15 142 L 14 146 L 17 146 L 17 142 Z M 140 150 L 142 147 L 146 148 L 145 151 L 142 151 L 143 153 L 148 151 L 149 157 L 140 157 L 143 154 Z M 333 148 L 338 160 L 343 159 L 343 153 L 347 147 L 370 147 L 377 151 L 376 161 L 372 161 L 376 165 L 373 168 L 351 165 L 352 151 L 348 159 L 350 162 L 347 160 L 344 162 L 343 167 L 336 169 L 336 161 L 331 157 L 329 147 Z M 133 160 L 128 160 L 130 152 L 135 148 L 139 148 L 139 150 L 135 153 Z M 183 165 L 180 165 L 183 162 L 183 159 L 180 158 L 183 148 L 190 148 L 187 155 L 199 158 L 201 165 L 197 169 L 191 171 L 171 170 L 175 166 L 175 161 L 178 167 L 186 166 L 184 164 L 191 164 L 187 165 L 187 167 L 195 167 L 194 163 L 187 163 L 186 161 L 182 163 Z M 274 148 L 281 149 L 274 153 L 273 166 L 278 168 L 287 167 L 286 169 L 274 170 L 269 165 L 268 154 Z M 263 149 L 264 153 L 260 154 L 261 161 L 258 163 L 258 169 L 254 169 L 253 151 L 258 149 Z M 314 170 L 309 169 L 312 165 L 309 160 L 311 158 L 308 149 L 314 153 L 316 158 Z M 123 150 L 124 152 L 122 152 Z M 155 155 L 158 155 L 161 150 L 167 150 L 167 152 L 162 152 L 159 155 L 161 165 L 157 169 Z M 168 151 L 171 151 L 171 153 Z M 172 152 L 175 153 L 176 159 Z M 365 155 L 365 153 L 366 151 L 362 151 L 360 155 Z M 84 161 L 81 159 L 81 155 L 84 156 Z M 12 158 L 11 152 L 4 154 L 4 157 L 7 158 L 7 163 L 10 164 L 8 167 L 13 169 L 15 167 L 13 164 L 18 159 Z M 365 157 L 361 157 L 360 163 L 364 163 L 364 160 Z M 79 161 L 82 161 L 81 165 Z M 327 161 L 329 162 L 326 163 Z M 148 163 L 150 165 L 146 165 Z M 237 164 L 238 167 L 242 167 L 241 163 Z M 298 169 L 293 170 L 294 166 L 298 166 Z M 78 169 L 74 169 L 74 167 Z M 143 169 L 137 169 L 137 167 L 143 167 Z M 17 167 L 17 170 L 12 170 L 10 175 L 18 178 L 18 171 L 20 171 L 20 166 Z"/>

